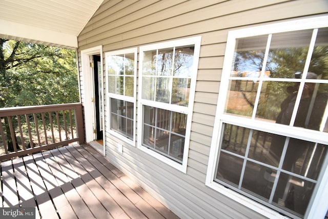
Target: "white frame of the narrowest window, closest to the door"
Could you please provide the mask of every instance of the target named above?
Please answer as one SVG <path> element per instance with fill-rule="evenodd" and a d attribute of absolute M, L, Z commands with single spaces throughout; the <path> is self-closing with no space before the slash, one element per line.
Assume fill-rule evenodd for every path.
<path fill-rule="evenodd" d="M 106 95 L 106 104 L 107 104 L 107 124 L 106 126 L 108 127 L 106 129 L 106 132 L 110 133 L 111 135 L 114 135 L 118 137 L 120 140 L 128 143 L 129 145 L 132 145 L 135 147 L 135 141 L 136 141 L 136 136 L 135 136 L 135 130 L 136 130 L 136 96 L 137 96 L 137 55 L 138 55 L 138 48 L 130 48 L 130 49 L 122 49 L 122 50 L 115 50 L 115 51 L 110 51 L 105 53 L 105 63 L 106 63 L 106 85 L 109 85 L 109 78 L 108 78 L 108 66 L 107 66 L 107 56 L 111 55 L 122 55 L 122 54 L 129 54 L 129 53 L 134 53 L 134 85 L 133 85 L 133 96 L 126 96 L 126 95 L 120 95 L 120 94 L 114 94 L 110 93 L 108 87 L 106 88 L 107 95 Z M 125 135 L 114 131 L 111 129 L 111 103 L 110 100 L 111 98 L 119 99 L 121 101 L 127 101 L 133 103 L 133 140 L 130 138 L 126 137 Z"/>

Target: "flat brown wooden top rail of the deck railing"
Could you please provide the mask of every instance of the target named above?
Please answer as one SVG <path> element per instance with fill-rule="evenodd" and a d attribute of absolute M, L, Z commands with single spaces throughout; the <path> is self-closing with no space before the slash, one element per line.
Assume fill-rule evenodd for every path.
<path fill-rule="evenodd" d="M 75 109 L 81 103 L 0 108 L 0 117 Z"/>

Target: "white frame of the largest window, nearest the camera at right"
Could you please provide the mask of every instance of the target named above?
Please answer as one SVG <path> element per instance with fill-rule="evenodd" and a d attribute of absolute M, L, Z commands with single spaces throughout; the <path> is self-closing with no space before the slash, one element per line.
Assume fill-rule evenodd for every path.
<path fill-rule="evenodd" d="M 257 129 L 261 131 L 268 131 L 275 134 L 282 134 L 290 137 L 302 138 L 303 140 L 314 141 L 321 144 L 328 144 L 328 133 L 318 132 L 314 130 L 306 130 L 301 128 L 298 129 L 297 134 L 293 129 L 290 129 L 284 125 L 280 124 L 270 124 L 268 123 L 252 120 L 249 118 L 242 118 L 238 116 L 232 116 L 228 114 L 224 114 L 224 104 L 226 103 L 228 86 L 229 86 L 229 77 L 231 73 L 231 64 L 233 61 L 236 39 L 250 36 L 258 36 L 263 34 L 273 34 L 280 32 L 289 32 L 289 31 L 297 31 L 297 30 L 305 30 L 305 29 L 316 29 L 316 28 L 324 28 L 328 27 L 328 16 L 319 16 L 314 18 L 305 18 L 305 19 L 297 19 L 291 22 L 281 22 L 272 25 L 263 25 L 252 28 L 245 28 L 240 30 L 230 31 L 228 33 L 227 47 L 226 53 L 224 55 L 223 69 L 222 69 L 222 77 L 220 83 L 220 91 L 217 102 L 217 109 L 215 114 L 215 122 L 213 129 L 213 137 L 211 142 L 208 170 L 206 176 L 206 185 L 217 192 L 226 195 L 232 198 L 234 201 L 262 214 L 263 216 L 269 218 L 285 218 L 283 215 L 278 212 L 265 207 L 264 205 L 259 204 L 258 202 L 253 201 L 251 198 L 243 196 L 232 189 L 226 188 L 223 185 L 214 182 L 215 171 L 216 171 L 216 163 L 218 152 L 220 150 L 220 133 L 222 129 L 222 123 L 228 122 L 229 124 L 241 125 L 243 127 Z M 300 137 L 302 136 L 302 137 Z M 327 159 L 326 159 L 327 160 Z M 319 186 L 317 190 L 314 191 L 315 198 L 309 204 L 310 209 L 304 215 L 304 218 L 323 218 L 328 209 L 328 202 L 326 201 L 326 197 L 328 196 L 328 168 L 322 170 L 321 179 L 318 179 Z"/>

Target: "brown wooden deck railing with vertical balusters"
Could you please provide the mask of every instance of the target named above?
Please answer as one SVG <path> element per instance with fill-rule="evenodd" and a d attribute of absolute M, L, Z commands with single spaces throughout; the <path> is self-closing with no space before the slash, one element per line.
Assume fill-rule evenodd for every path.
<path fill-rule="evenodd" d="M 0 109 L 0 161 L 84 143 L 80 103 Z"/>

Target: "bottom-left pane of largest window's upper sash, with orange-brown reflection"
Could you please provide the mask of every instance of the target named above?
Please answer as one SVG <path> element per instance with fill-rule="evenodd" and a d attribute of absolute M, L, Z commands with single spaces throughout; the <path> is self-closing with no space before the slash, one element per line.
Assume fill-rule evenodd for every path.
<path fill-rule="evenodd" d="M 248 117 L 252 116 L 258 83 L 230 80 L 229 87 L 229 97 L 225 112 Z"/>

